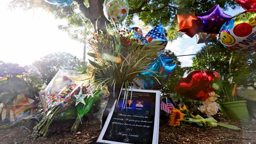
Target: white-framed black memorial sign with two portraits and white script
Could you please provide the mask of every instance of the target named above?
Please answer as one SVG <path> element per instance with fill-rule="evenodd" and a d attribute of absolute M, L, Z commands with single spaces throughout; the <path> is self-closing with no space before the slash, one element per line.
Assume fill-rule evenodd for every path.
<path fill-rule="evenodd" d="M 159 113 L 160 91 L 129 89 L 126 99 L 123 89 L 120 99 L 115 102 L 108 115 L 97 143 L 157 144 Z"/>

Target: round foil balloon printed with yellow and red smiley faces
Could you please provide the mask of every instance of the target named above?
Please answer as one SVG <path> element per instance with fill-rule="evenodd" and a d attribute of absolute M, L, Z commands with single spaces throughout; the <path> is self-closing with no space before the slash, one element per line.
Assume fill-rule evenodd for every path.
<path fill-rule="evenodd" d="M 220 28 L 220 42 L 236 52 L 256 51 L 256 9 L 246 10 L 227 20 Z"/>

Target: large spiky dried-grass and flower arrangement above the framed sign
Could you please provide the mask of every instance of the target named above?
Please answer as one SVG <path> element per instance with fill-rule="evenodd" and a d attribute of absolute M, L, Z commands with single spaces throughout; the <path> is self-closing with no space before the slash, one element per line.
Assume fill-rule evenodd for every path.
<path fill-rule="evenodd" d="M 85 43 L 90 48 L 88 55 L 94 61 L 89 60 L 83 74 L 70 77 L 78 86 L 93 84 L 95 88 L 110 86 L 114 89 L 125 88 L 126 91 L 140 73 L 152 72 L 149 64 L 158 57 L 156 52 L 164 48 L 159 41 L 143 45 L 140 40 L 134 39 L 134 31 L 126 28 L 108 29 L 107 33 L 100 31 L 92 35 Z M 127 99 L 127 96 L 128 93 L 124 97 Z"/>

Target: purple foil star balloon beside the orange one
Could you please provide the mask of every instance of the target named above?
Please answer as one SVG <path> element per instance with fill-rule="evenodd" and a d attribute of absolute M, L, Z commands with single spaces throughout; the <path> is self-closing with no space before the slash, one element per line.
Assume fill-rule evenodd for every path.
<path fill-rule="evenodd" d="M 232 16 L 225 14 L 217 4 L 208 12 L 196 16 L 199 20 L 199 27 L 202 28 L 200 32 L 215 33 L 220 32 L 220 28 L 224 22 L 230 19 Z"/>

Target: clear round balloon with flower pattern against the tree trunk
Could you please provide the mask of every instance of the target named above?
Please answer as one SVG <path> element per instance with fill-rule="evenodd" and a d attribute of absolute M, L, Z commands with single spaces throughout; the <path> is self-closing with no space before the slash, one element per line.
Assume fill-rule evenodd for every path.
<path fill-rule="evenodd" d="M 103 4 L 103 12 L 106 18 L 115 23 L 122 23 L 128 16 L 127 0 L 105 0 Z"/>

